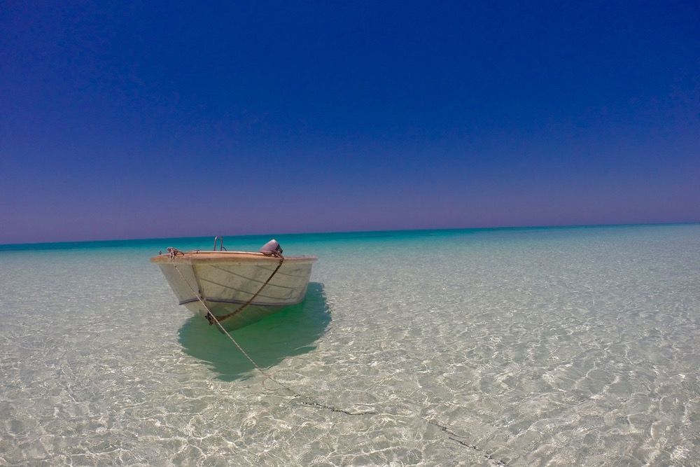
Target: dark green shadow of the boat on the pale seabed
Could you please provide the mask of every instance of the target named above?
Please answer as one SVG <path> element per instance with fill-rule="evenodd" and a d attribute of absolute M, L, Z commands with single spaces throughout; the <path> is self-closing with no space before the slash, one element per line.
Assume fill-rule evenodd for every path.
<path fill-rule="evenodd" d="M 276 365 L 288 356 L 316 349 L 330 323 L 330 308 L 323 284 L 309 282 L 303 302 L 281 309 L 244 328 L 230 331 L 248 355 L 262 368 Z M 218 379 L 248 379 L 255 369 L 241 351 L 215 326 L 201 316 L 192 316 L 179 330 L 186 354 L 211 364 Z"/>

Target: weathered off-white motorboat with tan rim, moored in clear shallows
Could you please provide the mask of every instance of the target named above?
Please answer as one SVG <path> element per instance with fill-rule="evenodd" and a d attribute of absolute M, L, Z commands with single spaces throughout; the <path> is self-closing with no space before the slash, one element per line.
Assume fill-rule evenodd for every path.
<path fill-rule="evenodd" d="M 151 258 L 191 312 L 234 330 L 304 300 L 315 256 L 282 256 L 275 240 L 258 252 L 179 251 Z"/>

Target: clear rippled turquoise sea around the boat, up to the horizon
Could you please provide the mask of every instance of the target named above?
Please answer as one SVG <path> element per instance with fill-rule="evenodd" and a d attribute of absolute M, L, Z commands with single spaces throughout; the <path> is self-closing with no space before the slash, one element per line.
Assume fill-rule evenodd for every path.
<path fill-rule="evenodd" d="M 211 238 L 0 246 L 0 464 L 700 464 L 700 225 L 278 239 L 307 300 L 233 335 L 376 413 L 176 304 Z"/>

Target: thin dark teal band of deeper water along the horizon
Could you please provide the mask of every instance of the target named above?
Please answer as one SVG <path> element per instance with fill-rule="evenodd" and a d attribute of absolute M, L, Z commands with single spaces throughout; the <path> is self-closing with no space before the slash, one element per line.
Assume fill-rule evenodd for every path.
<path fill-rule="evenodd" d="M 700 221 L 694 222 L 663 222 L 663 223 L 612 223 L 612 224 L 567 224 L 567 225 L 503 225 L 498 227 L 454 227 L 454 228 L 415 228 L 415 229 L 377 229 L 377 230 L 330 230 L 318 232 L 262 232 L 247 234 L 224 234 L 220 237 L 246 239 L 255 237 L 296 237 L 306 235 L 353 235 L 353 234 L 374 234 L 388 232 L 458 232 L 458 231 L 496 231 L 496 230 L 545 230 L 545 229 L 575 229 L 575 228 L 615 228 L 615 227 L 653 227 L 666 225 L 698 225 Z M 59 240 L 55 242 L 10 242 L 0 243 L 0 251 L 22 251 L 25 249 L 52 249 L 50 247 L 73 246 L 115 246 L 123 242 L 157 242 L 158 240 L 192 240 L 214 238 L 214 235 L 179 235 L 175 237 L 140 237 L 123 239 L 85 239 L 85 240 Z"/>

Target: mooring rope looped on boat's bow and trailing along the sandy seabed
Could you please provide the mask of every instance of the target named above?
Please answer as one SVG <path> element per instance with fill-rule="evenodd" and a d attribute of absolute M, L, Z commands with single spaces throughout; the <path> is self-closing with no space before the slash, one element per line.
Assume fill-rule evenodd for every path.
<path fill-rule="evenodd" d="M 248 355 L 248 353 L 247 353 L 247 352 L 243 349 L 243 347 L 241 347 L 241 345 L 233 338 L 233 336 L 228 332 L 228 330 L 226 330 L 226 329 L 221 325 L 221 322 L 216 318 L 216 316 L 214 316 L 214 313 L 211 312 L 211 310 L 210 310 L 209 307 L 207 306 L 207 303 L 204 302 L 204 299 L 202 298 L 202 296 L 200 295 L 200 293 L 199 293 L 198 291 L 195 291 L 195 289 L 193 288 L 193 286 L 191 286 L 190 283 L 188 282 L 188 280 L 185 279 L 185 276 L 183 276 L 182 272 L 180 272 L 179 268 L 178 268 L 177 265 L 175 264 L 175 257 L 178 256 L 178 255 L 183 255 L 184 253 L 183 253 L 182 251 L 180 251 L 179 249 L 172 248 L 172 247 L 169 247 L 169 248 L 167 249 L 167 251 L 168 251 L 169 258 L 170 258 L 170 262 L 172 263 L 172 265 L 173 265 L 173 267 L 175 268 L 175 270 L 178 272 L 178 274 L 180 274 L 180 277 L 181 277 L 182 280 L 185 282 L 185 284 L 187 284 L 187 286 L 190 288 L 190 291 L 192 291 L 192 293 L 195 294 L 195 296 L 197 297 L 197 300 L 200 300 L 200 302 L 202 303 L 202 306 L 204 307 L 204 309 L 207 310 L 207 316 L 206 316 L 206 318 L 207 318 L 207 320 L 209 321 L 209 324 L 216 324 L 216 326 L 218 326 L 219 330 L 221 330 L 221 332 L 222 332 L 223 334 L 225 334 L 226 337 L 228 337 L 229 340 L 230 340 L 231 342 L 233 342 L 233 344 L 234 344 L 234 345 L 236 346 L 236 348 L 241 352 L 241 354 L 243 354 L 243 356 L 245 356 L 245 357 L 248 359 L 248 361 L 252 363 L 253 367 L 254 367 L 256 370 L 258 370 L 258 372 L 260 372 L 260 374 L 261 374 L 262 376 L 264 376 L 266 379 L 269 379 L 270 381 L 272 381 L 272 382 L 278 384 L 279 386 L 281 386 L 281 388 L 286 389 L 286 391 L 288 391 L 289 393 L 291 393 L 291 394 L 292 394 L 293 396 L 295 396 L 296 398 L 299 398 L 299 399 L 300 399 L 300 403 L 302 403 L 303 405 L 309 405 L 309 406 L 311 406 L 311 407 L 319 407 L 319 408 L 322 408 L 322 409 L 330 410 L 330 412 L 337 412 L 337 413 L 342 413 L 342 414 L 346 414 L 346 415 L 378 415 L 378 414 L 379 414 L 379 412 L 376 412 L 376 411 L 373 411 L 373 410 L 367 410 L 367 411 L 361 411 L 361 412 L 351 412 L 351 411 L 349 411 L 349 410 L 344 410 L 344 409 L 341 409 L 341 408 L 339 408 L 339 407 L 335 407 L 335 406 L 333 406 L 333 405 L 326 405 L 326 404 L 323 404 L 323 403 L 318 402 L 318 400 L 315 400 L 314 398 L 311 398 L 311 396 L 306 396 L 306 395 L 300 393 L 299 391 L 295 391 L 294 389 L 290 388 L 290 387 L 287 386 L 286 384 L 284 384 L 284 383 L 282 383 L 282 382 L 279 382 L 277 379 L 274 379 L 274 377 L 272 377 L 272 375 L 269 375 L 268 372 L 266 372 L 265 370 L 263 370 L 263 369 L 260 367 L 260 365 L 258 365 L 258 363 L 255 363 L 255 361 L 253 360 L 253 358 L 251 358 L 251 356 Z M 255 299 L 255 297 L 258 296 L 258 294 L 260 293 L 260 291 L 262 291 L 262 288 L 265 288 L 265 286 L 267 286 L 267 284 L 269 283 L 269 281 L 272 280 L 272 277 L 274 277 L 274 274 L 276 274 L 276 272 L 279 271 L 279 268 L 282 266 L 282 263 L 283 263 L 283 261 L 284 261 L 284 258 L 283 258 L 283 256 L 282 256 L 281 254 L 279 254 L 278 257 L 281 258 L 281 260 L 280 260 L 279 264 L 277 265 L 276 269 L 272 272 L 272 274 L 270 274 L 270 276 L 269 276 L 269 278 L 267 279 L 267 281 L 265 281 L 265 284 L 262 284 L 262 286 L 260 287 L 260 289 L 258 289 L 258 291 L 255 293 L 255 295 L 253 295 L 253 297 L 252 297 L 250 300 L 248 300 L 248 302 L 244 303 L 244 305 L 241 305 L 241 307 L 239 307 L 238 309 L 236 309 L 234 312 L 225 315 L 225 316 L 224 316 L 225 318 L 229 318 L 229 317 L 234 316 L 235 314 L 238 314 L 239 312 L 243 311 L 243 309 L 244 309 L 245 307 L 248 307 L 248 305 L 250 305 L 251 302 L 253 302 L 253 299 Z M 264 385 L 264 384 L 265 384 L 265 381 L 263 380 L 263 385 Z M 305 399 L 305 400 L 304 400 L 304 399 Z M 473 449 L 473 450 L 475 450 L 475 451 L 481 453 L 482 456 L 484 456 L 484 459 L 486 459 L 487 461 L 493 462 L 493 465 L 496 465 L 496 466 L 507 466 L 507 464 L 506 464 L 504 461 L 502 461 L 502 460 L 500 460 L 500 459 L 494 458 L 493 455 L 492 455 L 491 453 L 485 451 L 484 449 L 481 449 L 481 448 L 479 448 L 479 447 L 476 446 L 476 445 L 470 445 L 468 442 L 465 442 L 465 441 L 463 441 L 463 440 L 459 440 L 458 438 L 463 438 L 463 436 L 458 435 L 457 433 L 454 433 L 454 431 L 451 431 L 449 428 L 447 428 L 447 426 L 444 426 L 444 425 L 442 425 L 442 424 L 439 424 L 439 423 L 437 423 L 437 422 L 435 422 L 435 421 L 430 421 L 430 420 L 428 420 L 428 419 L 424 419 L 424 420 L 426 421 L 427 424 L 436 426 L 437 428 L 440 428 L 441 431 L 444 431 L 444 433 L 447 433 L 447 435 L 448 435 L 447 438 L 448 438 L 449 440 L 458 443 L 458 445 L 461 445 L 461 446 L 463 446 L 463 447 L 468 447 L 468 448 L 470 448 L 470 449 Z"/>

